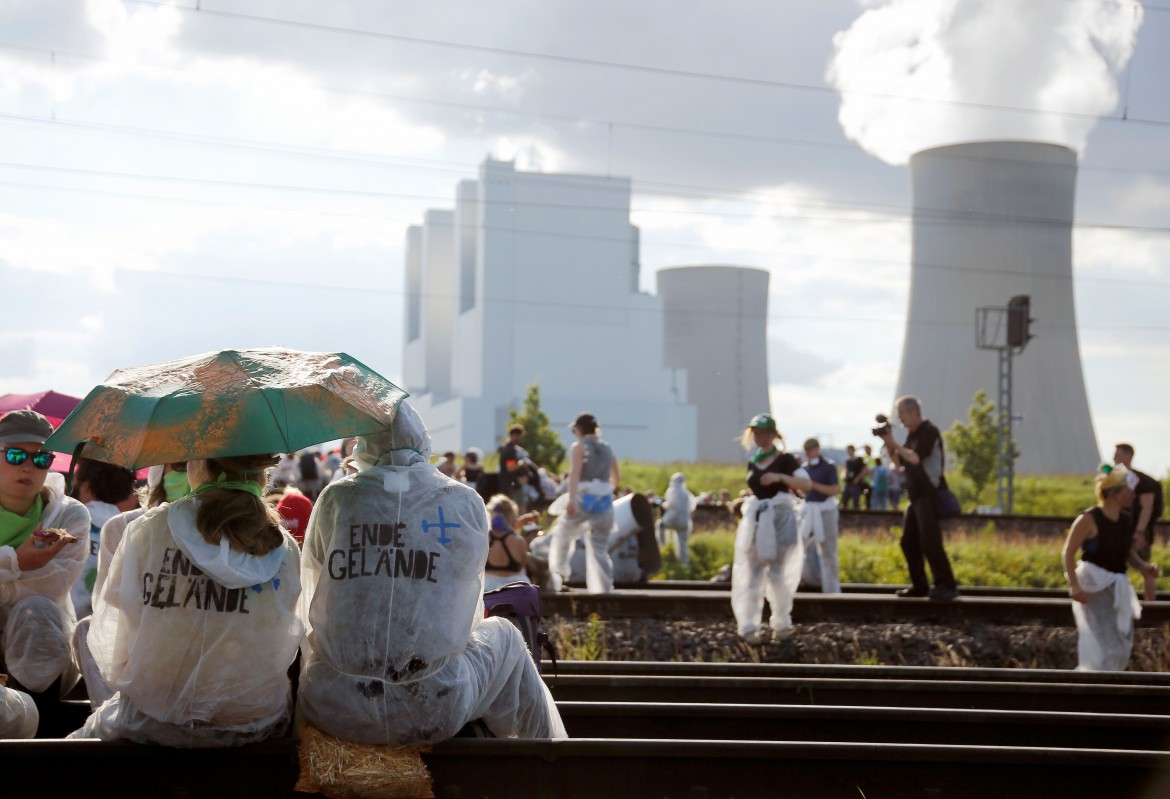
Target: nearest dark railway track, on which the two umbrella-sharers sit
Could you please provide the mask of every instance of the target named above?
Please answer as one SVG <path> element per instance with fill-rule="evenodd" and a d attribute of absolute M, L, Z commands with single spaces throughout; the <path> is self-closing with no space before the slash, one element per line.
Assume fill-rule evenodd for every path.
<path fill-rule="evenodd" d="M 1170 675 L 566 661 L 545 679 L 573 738 L 439 744 L 436 797 L 1170 795 Z M 0 742 L 0 757 L 42 799 L 289 797 L 297 776 L 288 738 Z"/>

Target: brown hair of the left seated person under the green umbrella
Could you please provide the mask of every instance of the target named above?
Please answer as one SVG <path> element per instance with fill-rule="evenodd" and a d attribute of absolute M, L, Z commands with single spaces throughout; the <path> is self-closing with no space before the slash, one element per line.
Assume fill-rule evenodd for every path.
<path fill-rule="evenodd" d="M 213 477 L 222 474 L 229 481 L 252 480 L 262 485 L 264 469 L 275 464 L 273 455 L 212 457 L 207 471 Z M 254 480 L 257 474 L 261 480 Z M 195 528 L 208 544 L 227 538 L 228 546 L 248 555 L 268 555 L 284 545 L 280 514 L 260 497 L 222 488 L 207 489 L 201 497 Z"/>

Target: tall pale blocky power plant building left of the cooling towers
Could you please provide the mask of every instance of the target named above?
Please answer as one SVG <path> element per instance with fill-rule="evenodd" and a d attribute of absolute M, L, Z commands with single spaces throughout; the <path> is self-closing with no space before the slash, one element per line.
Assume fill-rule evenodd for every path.
<path fill-rule="evenodd" d="M 436 452 L 494 448 L 536 383 L 565 443 L 589 411 L 620 457 L 696 459 L 687 372 L 663 366 L 662 301 L 638 288 L 629 194 L 489 159 L 454 211 L 408 229 L 404 381 Z"/>

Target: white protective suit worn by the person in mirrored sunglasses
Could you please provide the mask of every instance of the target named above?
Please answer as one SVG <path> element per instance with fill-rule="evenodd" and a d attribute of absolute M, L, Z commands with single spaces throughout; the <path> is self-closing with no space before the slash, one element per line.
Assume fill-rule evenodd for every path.
<path fill-rule="evenodd" d="M 44 480 L 48 501 L 42 528 L 67 530 L 77 538 L 46 565 L 22 572 L 16 550 L 0 546 L 0 652 L 8 674 L 30 691 L 43 691 L 58 676 L 62 693 L 73 688 L 76 670 L 69 638 L 76 615 L 69 590 L 88 556 L 89 511 L 66 496 L 66 481 L 49 473 Z"/>

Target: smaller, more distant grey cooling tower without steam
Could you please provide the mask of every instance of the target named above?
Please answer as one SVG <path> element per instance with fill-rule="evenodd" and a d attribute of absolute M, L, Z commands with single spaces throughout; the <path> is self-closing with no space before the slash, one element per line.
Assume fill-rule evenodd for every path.
<path fill-rule="evenodd" d="M 748 421 L 768 411 L 768 282 L 763 269 L 679 267 L 658 273 L 663 365 L 687 370 L 701 461 L 739 463 Z"/>

